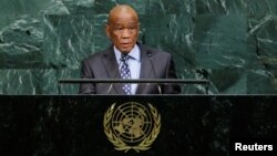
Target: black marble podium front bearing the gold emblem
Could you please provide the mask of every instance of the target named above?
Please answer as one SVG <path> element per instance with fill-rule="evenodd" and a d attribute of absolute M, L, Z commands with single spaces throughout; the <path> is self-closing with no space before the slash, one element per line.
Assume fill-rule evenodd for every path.
<path fill-rule="evenodd" d="M 276 101 L 275 95 L 1 95 L 0 153 L 12 156 L 227 156 L 236 141 L 276 141 Z M 109 117 L 116 110 L 120 114 Z M 144 111 L 154 117 L 148 132 L 132 129 L 134 121 L 127 121 L 130 125 L 116 123 L 116 118 L 117 122 L 125 119 L 124 113 L 129 117 L 133 113 L 131 117 L 143 118 L 145 124 L 150 122 L 143 117 L 146 115 L 137 114 Z M 136 128 L 145 127 L 137 125 Z M 112 126 L 117 126 L 117 134 Z M 123 133 L 131 131 L 133 134 L 125 137 L 132 136 L 135 141 L 145 136 L 147 144 L 142 144 L 143 138 L 130 145 Z M 109 133 L 112 138 L 107 137 Z M 123 148 L 132 148 L 115 149 L 122 147 L 116 144 L 121 141 L 126 143 Z"/>

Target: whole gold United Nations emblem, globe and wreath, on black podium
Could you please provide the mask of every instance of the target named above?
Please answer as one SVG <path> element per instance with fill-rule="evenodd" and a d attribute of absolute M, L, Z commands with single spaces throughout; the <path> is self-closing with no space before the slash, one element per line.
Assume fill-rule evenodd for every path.
<path fill-rule="evenodd" d="M 104 115 L 104 132 L 116 150 L 134 149 L 146 150 L 151 148 L 161 128 L 161 116 L 156 108 L 127 102 L 116 106 L 112 104 Z"/>

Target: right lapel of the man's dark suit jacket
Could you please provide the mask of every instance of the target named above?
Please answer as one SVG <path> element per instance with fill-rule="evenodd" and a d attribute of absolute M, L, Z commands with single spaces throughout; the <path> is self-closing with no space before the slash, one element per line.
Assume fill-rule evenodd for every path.
<path fill-rule="evenodd" d="M 144 48 L 142 44 L 138 44 L 141 49 L 141 73 L 140 73 L 140 79 L 151 79 L 151 72 L 153 72 L 150 58 L 147 55 L 147 52 L 150 51 L 148 49 Z M 142 94 L 143 89 L 146 86 L 146 84 L 141 83 L 137 85 L 136 89 L 136 94 Z"/>

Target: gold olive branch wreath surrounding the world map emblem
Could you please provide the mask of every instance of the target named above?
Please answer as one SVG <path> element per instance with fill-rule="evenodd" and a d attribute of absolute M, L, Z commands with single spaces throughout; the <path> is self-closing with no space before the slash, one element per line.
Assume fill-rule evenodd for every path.
<path fill-rule="evenodd" d="M 103 119 L 104 133 L 107 136 L 109 141 L 115 146 L 114 148 L 116 150 L 124 150 L 126 153 L 130 149 L 134 149 L 137 153 L 140 153 L 140 150 L 147 150 L 151 148 L 152 143 L 156 139 L 160 133 L 161 116 L 152 104 L 148 104 L 148 106 L 151 108 L 151 114 L 154 121 L 154 126 L 153 126 L 151 134 L 147 137 L 145 137 L 138 145 L 135 145 L 135 146 L 130 146 L 126 143 L 124 143 L 121 138 L 116 137 L 110 127 L 110 122 L 112 119 L 115 103 L 111 107 L 109 107 L 109 110 L 105 112 L 104 119 Z"/>

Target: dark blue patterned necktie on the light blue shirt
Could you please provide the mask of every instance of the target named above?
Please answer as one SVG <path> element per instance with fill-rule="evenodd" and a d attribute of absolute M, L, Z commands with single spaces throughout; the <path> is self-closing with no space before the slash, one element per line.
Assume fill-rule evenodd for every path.
<path fill-rule="evenodd" d="M 126 79 L 126 80 L 131 79 L 131 72 L 130 72 L 130 69 L 129 69 L 129 65 L 127 65 L 127 60 L 129 59 L 130 59 L 130 55 L 127 55 L 127 54 L 122 54 L 121 55 L 122 65 L 121 65 L 121 69 L 120 69 L 120 73 L 121 73 L 121 77 Z M 125 83 L 122 89 L 125 92 L 125 94 L 127 94 L 127 95 L 132 94 L 130 83 Z"/>

